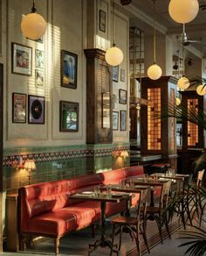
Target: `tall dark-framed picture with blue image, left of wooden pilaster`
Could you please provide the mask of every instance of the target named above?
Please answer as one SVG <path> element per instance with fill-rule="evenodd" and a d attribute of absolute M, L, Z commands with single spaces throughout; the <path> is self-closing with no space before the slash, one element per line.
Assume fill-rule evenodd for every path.
<path fill-rule="evenodd" d="M 61 86 L 77 89 L 78 55 L 61 50 Z"/>

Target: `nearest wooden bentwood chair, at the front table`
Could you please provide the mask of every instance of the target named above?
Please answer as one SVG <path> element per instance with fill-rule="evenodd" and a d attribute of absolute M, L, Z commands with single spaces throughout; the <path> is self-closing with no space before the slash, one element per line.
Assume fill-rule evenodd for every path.
<path fill-rule="evenodd" d="M 120 228 L 120 240 L 118 246 L 118 252 L 120 252 L 121 247 L 121 239 L 122 239 L 122 232 L 126 231 L 129 233 L 132 239 L 135 239 L 137 251 L 139 255 L 141 255 L 141 243 L 140 243 L 140 235 L 142 234 L 145 245 L 147 246 L 148 252 L 148 239 L 146 235 L 146 212 L 147 212 L 147 203 L 148 203 L 148 196 L 150 193 L 150 188 L 146 188 L 139 191 L 140 197 L 136 205 L 136 216 L 135 217 L 125 217 L 125 216 L 118 216 L 113 217 L 111 220 L 112 224 L 112 249 L 110 255 L 113 254 L 113 241 L 115 236 L 115 227 Z"/>

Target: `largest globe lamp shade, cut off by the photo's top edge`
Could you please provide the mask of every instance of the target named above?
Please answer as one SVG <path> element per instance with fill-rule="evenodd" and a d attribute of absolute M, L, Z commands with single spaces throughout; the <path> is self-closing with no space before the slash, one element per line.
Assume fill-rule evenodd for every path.
<path fill-rule="evenodd" d="M 197 0 L 171 0 L 168 4 L 168 12 L 171 18 L 178 23 L 188 23 L 199 11 Z"/>

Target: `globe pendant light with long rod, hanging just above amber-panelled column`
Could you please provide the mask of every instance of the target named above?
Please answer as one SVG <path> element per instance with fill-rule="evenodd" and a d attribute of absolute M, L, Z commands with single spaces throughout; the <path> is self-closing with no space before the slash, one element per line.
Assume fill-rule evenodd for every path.
<path fill-rule="evenodd" d="M 153 0 L 155 3 L 155 0 Z M 156 64 L 156 29 L 155 29 L 155 8 L 154 8 L 154 63 L 148 68 L 148 77 L 157 80 L 161 77 L 161 67 Z"/>

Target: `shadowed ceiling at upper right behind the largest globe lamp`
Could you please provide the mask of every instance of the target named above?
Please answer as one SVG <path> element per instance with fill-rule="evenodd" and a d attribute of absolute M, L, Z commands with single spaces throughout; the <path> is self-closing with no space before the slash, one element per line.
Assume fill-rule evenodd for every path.
<path fill-rule="evenodd" d="M 182 24 L 176 23 L 168 14 L 170 0 L 155 0 L 156 30 L 173 37 L 181 37 Z M 180 0 L 181 1 L 181 0 Z M 185 31 L 189 40 L 198 40 L 198 43 L 190 43 L 186 47 L 195 47 L 199 53 L 206 56 L 206 0 L 198 0 L 200 9 L 196 18 L 185 25 Z M 140 28 L 145 34 L 153 34 L 154 1 L 153 0 L 132 0 L 126 10 L 130 12 L 130 25 Z M 135 13 L 136 11 L 136 13 Z M 138 14 L 137 14 L 138 12 Z M 136 18 L 136 16 L 143 17 Z M 148 21 L 147 21 L 148 19 Z M 150 24 L 149 24 L 150 23 Z"/>

